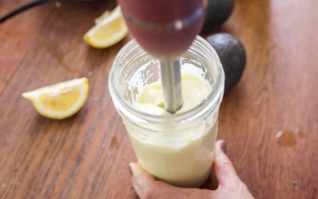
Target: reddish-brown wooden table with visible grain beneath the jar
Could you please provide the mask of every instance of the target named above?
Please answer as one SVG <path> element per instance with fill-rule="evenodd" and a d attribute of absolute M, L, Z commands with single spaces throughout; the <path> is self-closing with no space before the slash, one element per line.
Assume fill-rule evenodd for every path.
<path fill-rule="evenodd" d="M 0 16 L 26 2 L 0 0 Z M 114 6 L 51 3 L 0 25 L 1 199 L 137 197 L 128 172 L 136 159 L 107 85 L 131 37 L 104 50 L 82 39 Z M 318 198 L 317 10 L 316 0 L 236 0 L 220 30 L 241 39 L 247 65 L 222 102 L 218 139 L 255 198 Z M 42 117 L 21 97 L 88 74 L 89 98 L 68 119 Z M 277 142 L 296 129 L 305 137 L 294 146 Z"/>

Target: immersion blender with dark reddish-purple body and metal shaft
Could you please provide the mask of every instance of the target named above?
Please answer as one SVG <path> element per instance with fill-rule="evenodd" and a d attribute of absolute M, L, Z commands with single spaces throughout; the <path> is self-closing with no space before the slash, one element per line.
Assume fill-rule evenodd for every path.
<path fill-rule="evenodd" d="M 183 104 L 180 56 L 200 32 L 204 0 L 118 0 L 129 31 L 159 59 L 165 110 Z"/>

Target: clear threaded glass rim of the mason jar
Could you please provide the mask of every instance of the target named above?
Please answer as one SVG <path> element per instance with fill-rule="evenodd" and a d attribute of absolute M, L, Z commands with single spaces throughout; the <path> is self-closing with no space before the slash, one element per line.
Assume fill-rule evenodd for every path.
<path fill-rule="evenodd" d="M 218 54 L 214 50 L 214 48 L 202 37 L 197 35 L 192 45 L 193 44 L 197 44 L 201 48 L 205 48 L 206 53 L 210 54 L 210 56 L 215 59 L 216 67 L 220 72 L 220 75 L 216 76 L 216 80 L 214 82 L 214 87 L 212 89 L 212 92 L 201 104 L 183 113 L 179 113 L 175 115 L 156 116 L 156 115 L 150 115 L 148 113 L 142 112 L 134 108 L 130 103 L 124 100 L 121 97 L 121 94 L 118 93 L 118 90 L 115 89 L 116 83 L 114 81 L 116 80 L 115 78 L 116 67 L 123 58 L 126 58 L 125 57 L 126 52 L 129 52 L 129 50 L 132 50 L 136 47 L 141 47 L 140 44 L 135 39 L 132 39 L 125 46 L 123 46 L 121 50 L 117 53 L 114 59 L 114 62 L 112 64 L 112 67 L 110 69 L 109 78 L 108 78 L 109 92 L 112 97 L 113 103 L 116 109 L 120 111 L 120 114 L 122 113 L 123 115 L 128 117 L 130 120 L 134 122 L 139 122 L 139 123 L 177 125 L 177 124 L 183 124 L 183 123 L 188 123 L 188 122 L 197 120 L 213 107 L 216 107 L 216 106 L 218 107 L 223 98 L 224 82 L 225 82 L 225 74 L 224 74 L 221 61 L 218 57 Z"/>

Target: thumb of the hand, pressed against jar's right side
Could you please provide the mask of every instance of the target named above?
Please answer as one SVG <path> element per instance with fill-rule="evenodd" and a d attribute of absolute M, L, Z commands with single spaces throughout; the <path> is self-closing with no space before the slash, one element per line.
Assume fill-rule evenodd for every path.
<path fill-rule="evenodd" d="M 214 172 L 219 187 L 235 188 L 241 182 L 237 176 L 231 160 L 227 157 L 224 140 L 215 143 Z"/>

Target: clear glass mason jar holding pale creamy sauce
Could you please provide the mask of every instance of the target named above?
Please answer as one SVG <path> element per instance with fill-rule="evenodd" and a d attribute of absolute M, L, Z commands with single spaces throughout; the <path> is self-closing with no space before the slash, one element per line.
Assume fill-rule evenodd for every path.
<path fill-rule="evenodd" d="M 134 39 L 117 54 L 108 85 L 141 167 L 157 180 L 199 187 L 210 175 L 214 160 L 225 75 L 217 53 L 199 36 L 180 63 L 182 73 L 196 75 L 212 88 L 200 105 L 180 114 L 155 116 L 132 106 L 144 86 L 160 80 L 158 60 Z"/>

